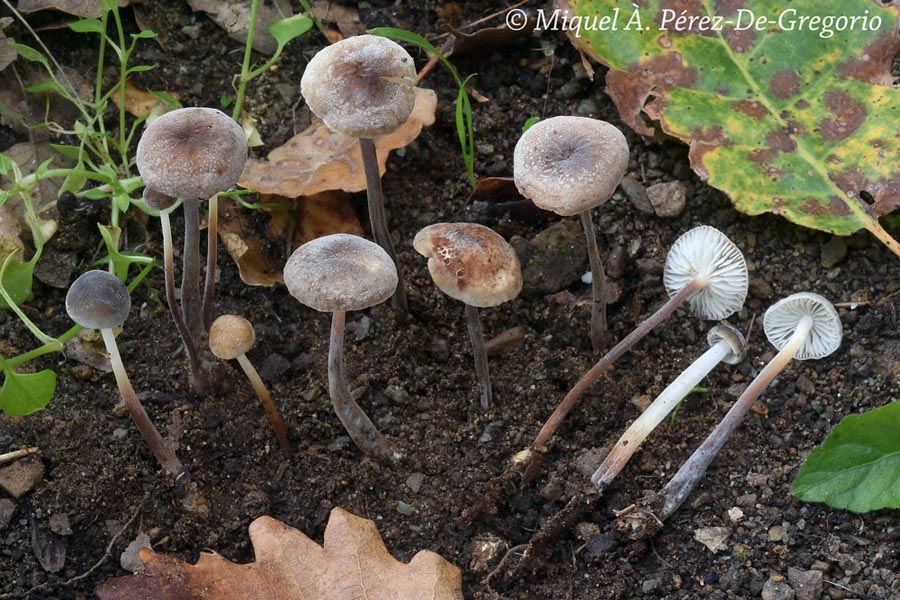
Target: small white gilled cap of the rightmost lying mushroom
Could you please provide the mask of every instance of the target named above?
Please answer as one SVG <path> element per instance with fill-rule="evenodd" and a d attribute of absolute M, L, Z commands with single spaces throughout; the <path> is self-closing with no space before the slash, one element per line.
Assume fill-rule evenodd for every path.
<path fill-rule="evenodd" d="M 782 298 L 769 307 L 763 318 L 763 329 L 769 343 L 781 350 L 804 316 L 812 317 L 813 325 L 794 358 L 825 358 L 837 350 L 843 336 L 841 318 L 831 302 L 810 292 Z"/>

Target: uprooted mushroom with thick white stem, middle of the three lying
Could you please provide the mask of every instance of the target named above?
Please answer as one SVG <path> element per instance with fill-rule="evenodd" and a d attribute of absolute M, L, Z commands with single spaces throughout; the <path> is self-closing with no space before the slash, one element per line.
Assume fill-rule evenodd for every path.
<path fill-rule="evenodd" d="M 709 350 L 691 363 L 664 389 L 634 423 L 622 434 L 603 464 L 591 476 L 597 491 L 603 490 L 625 467 L 631 456 L 650 432 L 662 422 L 675 406 L 690 393 L 700 381 L 720 362 L 736 365 L 747 352 L 747 343 L 741 332 L 726 324 L 716 325 L 706 336 Z"/>

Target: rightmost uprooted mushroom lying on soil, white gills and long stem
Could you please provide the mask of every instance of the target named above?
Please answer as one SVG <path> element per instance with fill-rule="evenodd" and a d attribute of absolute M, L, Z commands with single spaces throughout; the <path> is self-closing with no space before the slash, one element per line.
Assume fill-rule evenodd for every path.
<path fill-rule="evenodd" d="M 841 319 L 837 310 L 822 296 L 809 292 L 793 294 L 770 306 L 763 319 L 763 329 L 778 354 L 750 382 L 716 428 L 662 489 L 654 500 L 659 506 L 654 507 L 652 519 L 648 520 L 643 510 L 628 519 L 632 535 L 644 537 L 654 533 L 681 506 L 756 399 L 792 359 L 825 358 L 841 345 Z"/>

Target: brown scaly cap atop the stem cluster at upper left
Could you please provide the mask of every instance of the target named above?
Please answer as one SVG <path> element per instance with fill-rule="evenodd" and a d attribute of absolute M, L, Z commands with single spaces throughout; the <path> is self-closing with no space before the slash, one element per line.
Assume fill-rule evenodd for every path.
<path fill-rule="evenodd" d="M 230 189 L 244 169 L 241 126 L 214 108 L 180 108 L 155 119 L 138 142 L 144 184 L 173 198 L 203 199 Z"/>

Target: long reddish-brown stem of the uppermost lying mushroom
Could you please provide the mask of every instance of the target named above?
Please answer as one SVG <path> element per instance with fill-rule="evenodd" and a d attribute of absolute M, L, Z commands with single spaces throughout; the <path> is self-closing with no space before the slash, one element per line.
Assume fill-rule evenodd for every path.
<path fill-rule="evenodd" d="M 569 390 L 569 393 L 566 394 L 563 401 L 559 403 L 559 406 L 556 407 L 556 410 L 553 411 L 553 414 L 550 415 L 550 418 L 547 419 L 547 422 L 541 427 L 541 431 L 538 433 L 537 437 L 534 438 L 531 447 L 538 450 L 546 446 L 547 442 L 553 437 L 553 434 L 588 388 L 593 385 L 593 383 L 597 381 L 620 356 L 630 350 L 632 346 L 643 339 L 644 336 L 650 333 L 657 325 L 671 317 L 676 308 L 696 292 L 706 287 L 706 285 L 707 281 L 702 277 L 695 277 L 692 279 L 690 283 L 681 288 L 678 293 L 672 296 L 659 310 L 647 317 L 647 319 L 638 325 L 634 331 L 629 333 L 625 339 L 616 344 L 609 352 L 598 360 L 587 373 L 582 375 L 581 379 L 578 380 L 578 383 Z"/>

